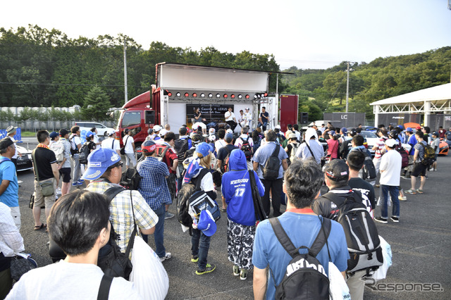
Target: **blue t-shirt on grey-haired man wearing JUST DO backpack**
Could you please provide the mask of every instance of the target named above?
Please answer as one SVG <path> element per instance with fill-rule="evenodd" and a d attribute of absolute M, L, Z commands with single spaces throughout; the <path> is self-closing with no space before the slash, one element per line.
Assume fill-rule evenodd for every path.
<path fill-rule="evenodd" d="M 321 229 L 321 224 L 317 215 L 285 212 L 283 215 L 280 215 L 278 219 L 292 243 L 297 247 L 311 246 Z M 347 269 L 347 260 L 350 258 L 347 251 L 345 232 L 340 223 L 333 220 L 331 223 L 332 226 L 328 238 L 330 258 L 332 258 L 332 262 L 337 266 L 338 270 L 343 272 Z M 299 228 L 302 228 L 302 230 L 299 230 Z M 307 253 L 305 249 L 299 251 L 301 251 L 300 253 Z M 323 265 L 326 274 L 328 274 L 329 257 L 326 245 L 319 251 L 316 258 L 321 265 Z M 276 285 L 279 285 L 291 259 L 290 254 L 283 249 L 282 244 L 280 244 L 274 234 L 273 227 L 271 227 L 269 220 L 264 220 L 259 223 L 257 232 L 255 233 L 254 252 L 252 254 L 252 263 L 254 266 L 259 269 L 264 269 L 269 264 L 276 280 Z M 274 287 L 273 277 L 271 275 L 268 275 L 268 277 L 266 299 L 274 299 L 276 287 Z"/>

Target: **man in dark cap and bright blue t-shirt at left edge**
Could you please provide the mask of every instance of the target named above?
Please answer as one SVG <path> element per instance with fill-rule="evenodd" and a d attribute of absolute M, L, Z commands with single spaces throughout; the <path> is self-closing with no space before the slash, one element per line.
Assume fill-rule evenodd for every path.
<path fill-rule="evenodd" d="M 0 141 L 0 202 L 11 208 L 11 216 L 20 230 L 20 209 L 16 167 L 11 158 L 16 153 L 16 145 L 5 137 Z"/>

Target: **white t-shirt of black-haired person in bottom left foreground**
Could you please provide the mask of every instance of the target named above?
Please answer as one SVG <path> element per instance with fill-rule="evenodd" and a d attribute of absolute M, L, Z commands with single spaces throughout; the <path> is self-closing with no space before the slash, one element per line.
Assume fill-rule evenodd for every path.
<path fill-rule="evenodd" d="M 104 273 L 91 263 L 52 263 L 25 273 L 6 299 L 97 299 Z M 133 282 L 114 277 L 109 299 L 142 299 Z"/>

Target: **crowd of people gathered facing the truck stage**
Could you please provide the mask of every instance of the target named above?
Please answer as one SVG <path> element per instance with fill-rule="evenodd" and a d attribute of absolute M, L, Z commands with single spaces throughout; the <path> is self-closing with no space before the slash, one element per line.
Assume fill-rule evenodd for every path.
<path fill-rule="evenodd" d="M 311 246 L 319 235 L 323 219 L 333 220 L 327 238 L 328 248 L 323 246 L 316 257 L 326 273 L 328 261 L 332 259 L 347 280 L 352 299 L 363 299 L 363 277 L 368 274 L 365 270 L 347 272 L 350 254 L 343 228 L 335 222 L 337 205 L 321 195 L 321 186 L 325 184 L 340 201 L 350 196 L 357 199 L 379 223 L 388 223 L 391 202 L 390 220 L 398 223 L 399 201 L 406 200 L 404 193 L 424 193 L 427 172 L 438 169 L 438 141 L 451 136 L 451 128 L 445 132 L 440 127 L 438 132 L 431 134 L 426 126 L 404 130 L 401 125 L 388 128 L 378 125 L 376 134 L 379 139 L 372 148 L 374 158 L 371 159 L 371 152 L 360 134 L 361 126 L 347 130 L 329 123 L 320 128 L 314 125 L 301 132 L 295 124 L 288 125 L 286 132 L 281 131 L 280 125 L 266 130 L 268 114 L 263 110 L 257 127 L 252 130 L 252 115 L 249 108 L 245 111 L 240 113 L 237 122 L 229 108 L 225 118 L 230 122 L 217 131 L 202 125 L 194 126 L 192 130 L 183 125 L 176 137 L 170 125 L 164 128 L 154 125 L 142 143 L 139 161 L 130 130 L 124 131 L 123 149 L 114 130 L 107 132 L 108 137 L 100 142 L 93 128 L 87 132 L 83 144 L 78 126 L 51 133 L 39 130 L 36 135 L 39 144 L 32 151 L 34 230 L 48 231 L 66 258 L 62 263 L 37 268 L 24 275 L 7 299 L 27 299 L 32 298 L 30 293 L 53 290 L 51 281 L 46 278 L 55 273 L 66 280 L 77 277 L 73 289 L 82 290 L 87 298 L 97 294 L 102 273 L 96 264 L 109 242 L 110 227 L 116 232 L 114 238 L 121 251 L 125 252 L 136 225 L 137 234 L 144 241 L 148 241 L 148 235 L 154 235 L 155 253 L 160 261 L 170 259 L 172 254 L 164 246 L 164 222 L 173 218 L 168 207 L 178 201 L 178 193 L 188 183 L 205 192 L 215 203 L 221 191 L 221 205 L 216 205 L 227 215 L 228 260 L 233 264 L 233 275 L 241 280 L 246 280 L 248 271 L 254 269 L 256 299 L 263 299 L 265 294 L 267 299 L 274 298 L 276 286 L 280 284 L 291 257 L 278 242 L 268 220 L 256 217 L 252 189 L 261 196 L 264 213 L 278 218 L 297 246 Z M 199 110 L 194 111 L 194 118 L 202 118 Z M 234 129 L 238 125 L 240 134 L 235 135 Z M 20 155 L 15 146 L 17 141 L 13 139 L 16 127 L 8 127 L 7 132 L 8 137 L 0 141 L 2 299 L 13 284 L 11 257 L 24 251 L 19 232 L 18 180 L 14 161 Z M 428 146 L 435 151 L 435 160 L 424 163 Z M 402 165 L 402 151 L 408 152 L 405 166 Z M 105 199 L 100 195 L 121 183 L 124 169 L 121 155 L 125 156 L 125 170 L 133 168 L 139 173 L 139 186 L 131 192 L 123 190 L 113 197 L 109 205 L 106 201 L 103 204 L 102 199 Z M 365 170 L 371 168 L 371 164 L 376 175 L 379 174 L 377 177 L 366 174 Z M 411 180 L 411 189 L 402 192 L 401 177 Z M 421 177 L 418 189 L 417 177 Z M 85 185 L 85 189 L 70 192 L 71 187 L 81 185 Z M 381 187 L 378 201 L 375 187 Z M 381 213 L 377 216 L 376 203 L 381 206 Z M 282 205 L 286 205 L 286 211 L 282 211 Z M 46 222 L 42 222 L 42 208 L 45 208 Z M 193 219 L 190 251 L 191 261 L 197 263 L 194 272 L 197 275 L 216 270 L 216 265 L 208 260 L 209 244 L 216 231 L 210 217 L 201 215 Z M 92 223 L 94 219 L 95 224 Z M 299 231 L 299 227 L 308 230 Z M 70 238 L 68 232 L 71 232 Z M 78 263 L 90 265 L 80 268 Z M 269 278 L 266 275 L 268 266 L 271 270 Z M 91 269 L 92 275 L 84 277 L 84 268 Z M 115 279 L 111 291 L 118 289 L 121 289 L 118 295 L 135 293 L 129 282 Z"/>

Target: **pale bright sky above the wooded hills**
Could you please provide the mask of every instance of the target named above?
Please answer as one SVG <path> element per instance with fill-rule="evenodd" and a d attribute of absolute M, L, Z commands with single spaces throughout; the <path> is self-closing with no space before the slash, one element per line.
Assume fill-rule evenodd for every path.
<path fill-rule="evenodd" d="M 451 46 L 448 0 L 2 1 L 0 27 L 68 37 L 128 35 L 199 51 L 273 54 L 280 70 L 416 54 Z"/>

